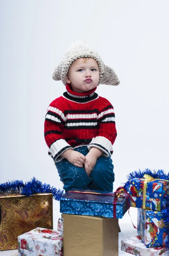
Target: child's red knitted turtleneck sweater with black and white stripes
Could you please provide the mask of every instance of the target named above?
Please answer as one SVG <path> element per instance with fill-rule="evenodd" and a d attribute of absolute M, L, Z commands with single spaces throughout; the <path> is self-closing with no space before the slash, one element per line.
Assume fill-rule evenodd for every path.
<path fill-rule="evenodd" d="M 45 116 L 45 141 L 55 162 L 69 148 L 96 147 L 108 157 L 117 136 L 115 114 L 110 102 L 94 91 L 75 93 L 70 84 L 63 96 L 55 99 Z"/>

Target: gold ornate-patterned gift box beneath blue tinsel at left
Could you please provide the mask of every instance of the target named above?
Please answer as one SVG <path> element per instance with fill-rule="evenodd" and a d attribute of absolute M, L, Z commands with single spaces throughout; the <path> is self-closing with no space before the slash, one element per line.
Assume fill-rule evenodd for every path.
<path fill-rule="evenodd" d="M 0 251 L 17 249 L 17 237 L 37 227 L 53 229 L 53 195 L 0 195 Z"/>

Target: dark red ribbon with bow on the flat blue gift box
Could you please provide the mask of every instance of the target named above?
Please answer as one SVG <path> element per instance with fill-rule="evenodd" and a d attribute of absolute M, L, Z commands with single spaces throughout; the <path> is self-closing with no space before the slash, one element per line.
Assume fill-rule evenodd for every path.
<path fill-rule="evenodd" d="M 116 191 L 114 193 L 99 193 L 99 192 L 86 192 L 86 191 L 79 191 L 79 190 L 70 190 L 68 191 L 68 193 L 80 193 L 80 194 L 90 194 L 90 195 L 109 195 L 109 196 L 113 196 L 114 197 L 114 201 L 113 201 L 113 218 L 116 218 L 116 204 L 117 204 L 117 200 L 119 197 L 124 197 L 127 198 L 127 206 L 128 208 L 130 208 L 130 201 L 129 198 L 132 202 L 134 202 L 134 200 L 132 199 L 131 195 L 127 192 L 126 189 L 124 189 L 124 187 L 118 187 L 118 189 L 116 189 Z"/>

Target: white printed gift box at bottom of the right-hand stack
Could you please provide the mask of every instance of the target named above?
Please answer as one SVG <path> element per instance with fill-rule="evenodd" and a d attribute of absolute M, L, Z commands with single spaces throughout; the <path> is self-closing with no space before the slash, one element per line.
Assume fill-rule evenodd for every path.
<path fill-rule="evenodd" d="M 169 247 L 146 248 L 140 236 L 121 240 L 121 250 L 136 256 L 168 256 Z"/>

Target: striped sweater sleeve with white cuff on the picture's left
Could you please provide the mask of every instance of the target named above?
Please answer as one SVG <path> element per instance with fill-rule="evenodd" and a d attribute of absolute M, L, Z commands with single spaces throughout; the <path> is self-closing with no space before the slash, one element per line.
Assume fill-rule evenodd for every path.
<path fill-rule="evenodd" d="M 58 108 L 50 105 L 45 116 L 45 141 L 49 147 L 48 154 L 57 162 L 57 158 L 66 150 L 73 149 L 63 136 L 65 115 Z"/>

